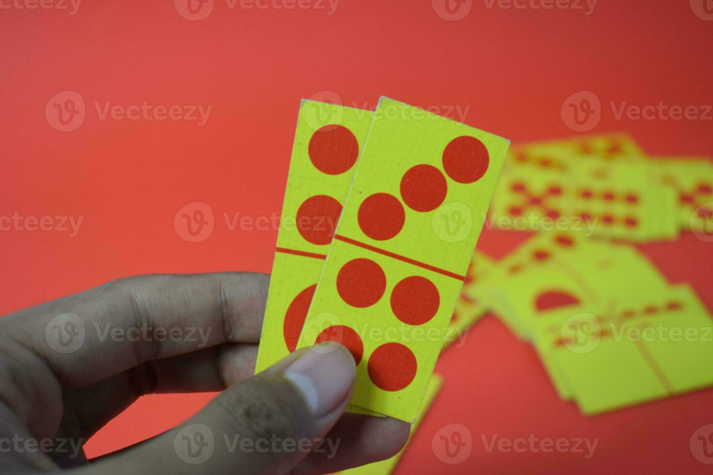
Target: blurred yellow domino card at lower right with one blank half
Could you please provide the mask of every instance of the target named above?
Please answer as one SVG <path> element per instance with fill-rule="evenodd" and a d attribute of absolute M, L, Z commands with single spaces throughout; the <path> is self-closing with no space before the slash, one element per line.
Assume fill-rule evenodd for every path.
<path fill-rule="evenodd" d="M 704 338 L 713 318 L 689 287 L 629 295 L 611 310 L 579 310 L 540 322 L 536 348 L 555 387 L 564 386 L 585 414 L 713 385 L 713 345 Z M 690 332 L 697 338 L 684 338 Z"/>

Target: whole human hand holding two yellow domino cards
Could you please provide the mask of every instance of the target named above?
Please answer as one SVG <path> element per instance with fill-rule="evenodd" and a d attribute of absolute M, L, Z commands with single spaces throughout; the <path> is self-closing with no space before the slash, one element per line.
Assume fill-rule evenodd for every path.
<path fill-rule="evenodd" d="M 317 474 L 396 454 L 409 424 L 344 414 L 355 370 L 341 345 L 253 376 L 268 282 L 123 278 L 0 318 L 0 471 Z M 141 395 L 212 391 L 180 427 L 87 464 L 81 444 Z"/>

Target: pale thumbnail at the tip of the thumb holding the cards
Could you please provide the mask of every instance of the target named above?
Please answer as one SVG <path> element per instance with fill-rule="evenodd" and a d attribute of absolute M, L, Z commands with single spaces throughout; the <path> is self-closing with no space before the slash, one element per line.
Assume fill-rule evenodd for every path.
<path fill-rule="evenodd" d="M 339 343 L 314 345 L 284 371 L 314 417 L 323 417 L 347 397 L 355 378 L 354 358 Z"/>

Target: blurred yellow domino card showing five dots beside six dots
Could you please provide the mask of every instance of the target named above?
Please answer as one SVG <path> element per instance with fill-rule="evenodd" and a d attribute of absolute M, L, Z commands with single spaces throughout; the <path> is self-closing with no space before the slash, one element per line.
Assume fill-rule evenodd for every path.
<path fill-rule="evenodd" d="M 647 167 L 588 157 L 567 173 L 513 167 L 503 174 L 491 207 L 500 229 L 579 229 L 631 241 L 677 236 L 670 187 L 650 182 Z"/>

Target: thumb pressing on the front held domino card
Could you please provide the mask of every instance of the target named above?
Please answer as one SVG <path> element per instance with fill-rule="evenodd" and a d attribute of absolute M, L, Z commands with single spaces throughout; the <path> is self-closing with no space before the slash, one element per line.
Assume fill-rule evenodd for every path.
<path fill-rule="evenodd" d="M 134 475 L 199 467 L 205 474 L 286 473 L 337 422 L 354 381 L 354 358 L 342 345 L 304 348 L 228 387 L 182 426 L 93 468 Z"/>

